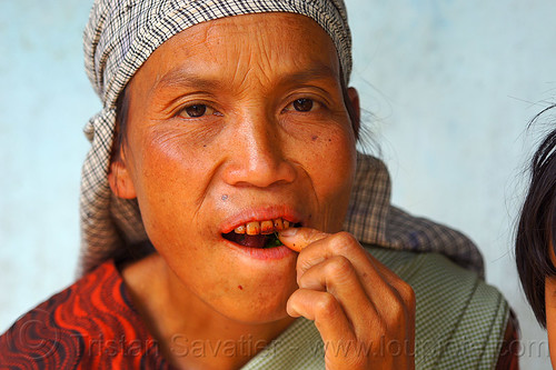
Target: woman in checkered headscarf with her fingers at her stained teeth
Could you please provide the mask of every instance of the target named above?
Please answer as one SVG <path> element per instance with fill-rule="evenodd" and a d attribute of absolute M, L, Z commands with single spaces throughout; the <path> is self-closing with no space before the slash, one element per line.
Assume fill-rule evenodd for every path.
<path fill-rule="evenodd" d="M 0 362 L 496 366 L 508 307 L 478 251 L 393 208 L 384 166 L 356 153 L 340 0 L 99 0 L 85 46 L 103 102 L 85 276 L 16 322 Z"/>

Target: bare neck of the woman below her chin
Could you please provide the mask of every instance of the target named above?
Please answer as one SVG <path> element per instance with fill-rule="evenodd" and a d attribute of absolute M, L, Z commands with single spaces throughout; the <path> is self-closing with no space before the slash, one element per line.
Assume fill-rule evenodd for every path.
<path fill-rule="evenodd" d="M 181 369 L 238 369 L 294 321 L 245 323 L 216 311 L 153 253 L 122 269 L 133 304 L 165 358 Z"/>

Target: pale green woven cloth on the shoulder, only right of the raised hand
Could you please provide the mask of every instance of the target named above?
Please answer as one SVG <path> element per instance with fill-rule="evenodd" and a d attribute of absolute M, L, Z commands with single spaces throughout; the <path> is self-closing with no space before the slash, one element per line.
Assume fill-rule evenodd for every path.
<path fill-rule="evenodd" d="M 424 369 L 495 367 L 510 312 L 497 288 L 439 253 L 368 250 L 415 291 L 416 363 Z"/>

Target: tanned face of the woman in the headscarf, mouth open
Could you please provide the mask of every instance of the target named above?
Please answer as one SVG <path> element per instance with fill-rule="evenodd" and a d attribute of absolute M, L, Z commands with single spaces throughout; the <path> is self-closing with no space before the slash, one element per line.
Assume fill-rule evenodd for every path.
<path fill-rule="evenodd" d="M 330 38 L 297 14 L 200 23 L 152 53 L 128 93 L 118 187 L 137 196 L 180 291 L 238 321 L 285 318 L 297 253 L 230 236 L 279 219 L 340 230 L 356 152 Z"/>

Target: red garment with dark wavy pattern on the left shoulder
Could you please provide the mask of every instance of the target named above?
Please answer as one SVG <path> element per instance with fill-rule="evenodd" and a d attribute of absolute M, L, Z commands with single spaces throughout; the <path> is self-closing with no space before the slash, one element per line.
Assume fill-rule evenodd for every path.
<path fill-rule="evenodd" d="M 112 261 L 0 337 L 1 369 L 169 369 Z"/>

